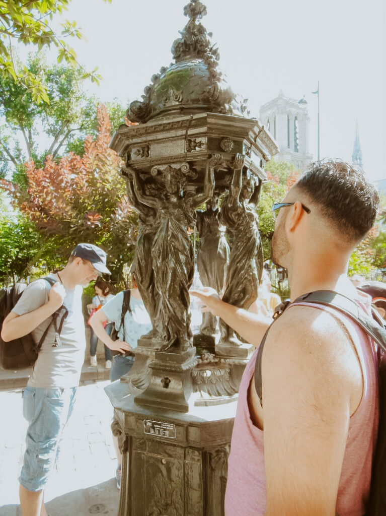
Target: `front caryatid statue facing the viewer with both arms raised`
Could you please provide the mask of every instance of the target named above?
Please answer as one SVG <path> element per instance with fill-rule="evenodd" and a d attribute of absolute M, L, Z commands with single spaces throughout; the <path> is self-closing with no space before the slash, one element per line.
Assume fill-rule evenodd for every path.
<path fill-rule="evenodd" d="M 213 195 L 214 174 L 208 166 L 203 193 L 184 193 L 180 178 L 188 170 L 188 164 L 178 170 L 168 167 L 164 171 L 166 192 L 160 198 L 145 195 L 138 174 L 133 176 L 137 198 L 157 212 L 152 259 L 159 294 L 157 313 L 166 341 L 161 350 L 185 351 L 192 346 L 189 288 L 193 281 L 194 254 L 187 230 L 193 222 L 194 210 Z"/>

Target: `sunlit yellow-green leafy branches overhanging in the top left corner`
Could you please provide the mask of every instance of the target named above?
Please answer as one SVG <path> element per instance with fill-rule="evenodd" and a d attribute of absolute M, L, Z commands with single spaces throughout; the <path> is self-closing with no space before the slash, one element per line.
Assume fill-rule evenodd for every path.
<path fill-rule="evenodd" d="M 111 3 L 111 0 L 105 2 Z M 0 0 L 0 75 L 11 78 L 31 95 L 34 102 L 49 103 L 48 88 L 42 78 L 26 67 L 18 68 L 14 62 L 15 43 L 43 47 L 57 47 L 58 62 L 63 59 L 71 66 L 78 66 L 74 50 L 66 43 L 68 37 L 81 38 L 75 22 L 65 21 L 58 34 L 51 26 L 54 14 L 61 14 L 70 0 Z M 97 82 L 96 69 L 91 73 L 83 70 L 83 76 Z"/>

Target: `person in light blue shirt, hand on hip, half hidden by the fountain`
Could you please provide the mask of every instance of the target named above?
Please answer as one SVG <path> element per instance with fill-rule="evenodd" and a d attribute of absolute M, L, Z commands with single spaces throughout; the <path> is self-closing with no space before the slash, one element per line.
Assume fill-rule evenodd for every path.
<path fill-rule="evenodd" d="M 121 325 L 124 294 L 120 292 L 94 313 L 90 319 L 90 326 L 100 340 L 111 350 L 118 351 L 113 357 L 110 370 L 110 380 L 118 380 L 129 372 L 135 360 L 135 349 L 138 339 L 152 330 L 152 322 L 146 312 L 141 294 L 137 288 L 135 274 L 132 274 L 133 288 L 130 289 L 130 310 L 125 314 Z M 111 340 L 110 335 L 103 327 L 103 322 L 109 320 L 118 330 L 118 340 Z M 116 468 L 116 482 L 121 487 L 122 455 L 118 447 L 118 439 L 113 437 L 118 467 Z"/>

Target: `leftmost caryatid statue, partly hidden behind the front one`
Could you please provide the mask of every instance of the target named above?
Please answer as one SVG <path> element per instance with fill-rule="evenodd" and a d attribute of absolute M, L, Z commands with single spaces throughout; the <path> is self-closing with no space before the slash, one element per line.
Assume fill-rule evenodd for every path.
<path fill-rule="evenodd" d="M 153 329 L 146 335 L 142 335 L 142 338 L 160 339 L 162 327 L 157 311 L 159 307 L 159 294 L 155 289 L 152 263 L 152 247 L 156 234 L 155 222 L 157 213 L 154 208 L 147 206 L 138 199 L 133 184 L 134 170 L 129 167 L 123 167 L 121 173 L 126 178 L 129 202 L 138 212 L 140 220 L 133 270 L 135 271 L 136 282 L 143 303 L 153 324 Z M 154 185 L 154 193 L 157 193 L 156 190 L 157 187 Z"/>

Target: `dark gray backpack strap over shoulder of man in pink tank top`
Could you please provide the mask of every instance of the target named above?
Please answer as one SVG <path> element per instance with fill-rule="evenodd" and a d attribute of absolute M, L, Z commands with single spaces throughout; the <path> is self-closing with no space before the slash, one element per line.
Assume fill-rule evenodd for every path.
<path fill-rule="evenodd" d="M 380 318 L 379 314 L 374 309 L 372 310 L 373 318 L 371 318 L 352 299 L 349 299 L 343 294 L 338 294 L 338 292 L 325 290 L 303 294 L 303 296 L 299 296 L 292 303 L 282 303 L 277 307 L 277 314 L 275 311 L 274 319 L 276 320 L 284 312 L 284 310 L 286 310 L 286 308 L 289 307 L 290 304 L 294 305 L 301 303 L 323 304 L 327 307 L 331 307 L 335 310 L 338 310 L 344 315 L 347 315 L 348 317 L 353 319 L 358 324 L 358 326 L 360 326 L 366 333 L 368 333 L 371 336 L 371 338 L 379 345 L 382 351 L 386 353 L 386 329 L 383 326 L 383 320 Z M 267 329 L 265 335 L 262 338 L 256 357 L 255 388 L 259 396 L 261 406 L 263 406 L 263 393 L 261 384 L 261 360 L 264 343 L 268 331 L 270 331 L 271 329 L 271 326 Z"/>

